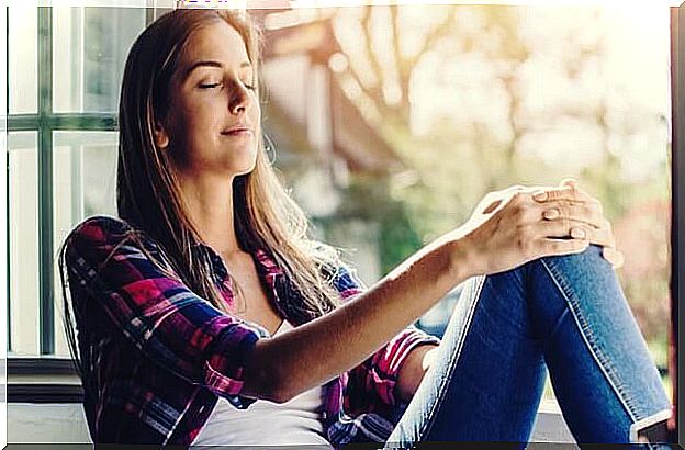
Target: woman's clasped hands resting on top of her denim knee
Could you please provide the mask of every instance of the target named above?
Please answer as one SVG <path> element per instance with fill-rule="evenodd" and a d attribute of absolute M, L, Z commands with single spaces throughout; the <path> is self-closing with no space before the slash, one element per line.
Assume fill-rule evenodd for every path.
<path fill-rule="evenodd" d="M 513 187 L 491 193 L 460 229 L 479 274 L 513 269 L 543 256 L 582 252 L 589 244 L 603 246 L 613 265 L 622 260 L 599 202 L 574 181 L 561 188 Z"/>

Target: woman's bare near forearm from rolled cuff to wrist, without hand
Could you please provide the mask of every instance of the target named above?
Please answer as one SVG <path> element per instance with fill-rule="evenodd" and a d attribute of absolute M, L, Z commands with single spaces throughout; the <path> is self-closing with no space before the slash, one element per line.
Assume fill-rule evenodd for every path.
<path fill-rule="evenodd" d="M 287 402 L 358 365 L 470 275 L 464 250 L 459 239 L 437 240 L 332 313 L 260 339 L 242 395 Z"/>

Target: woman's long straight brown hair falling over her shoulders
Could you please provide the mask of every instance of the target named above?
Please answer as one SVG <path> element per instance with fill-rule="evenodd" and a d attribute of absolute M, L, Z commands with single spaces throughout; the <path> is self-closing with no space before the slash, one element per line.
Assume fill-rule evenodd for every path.
<path fill-rule="evenodd" d="M 217 21 L 240 34 L 257 69 L 261 33 L 247 16 L 234 11 L 175 10 L 151 23 L 133 44 L 120 99 L 116 204 L 121 218 L 161 246 L 167 262 L 193 292 L 228 313 L 212 281 L 206 252 L 199 245 L 202 239 L 183 207 L 168 151 L 157 148 L 153 133 L 153 125 L 168 112 L 171 78 L 191 34 Z M 289 294 L 279 296 L 277 306 L 285 318 L 300 325 L 339 304 L 330 284 L 339 267 L 337 251 L 308 237 L 307 218 L 280 183 L 261 134 L 255 168 L 234 180 L 233 204 L 242 250 L 265 250 L 283 270 Z M 65 295 L 67 339 L 77 359 L 68 306 Z"/>

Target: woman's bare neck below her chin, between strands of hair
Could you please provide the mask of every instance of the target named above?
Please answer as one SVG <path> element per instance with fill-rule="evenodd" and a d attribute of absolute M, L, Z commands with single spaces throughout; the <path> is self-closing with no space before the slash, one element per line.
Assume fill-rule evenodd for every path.
<path fill-rule="evenodd" d="M 180 178 L 183 202 L 204 244 L 222 256 L 239 252 L 233 222 L 233 178 Z"/>

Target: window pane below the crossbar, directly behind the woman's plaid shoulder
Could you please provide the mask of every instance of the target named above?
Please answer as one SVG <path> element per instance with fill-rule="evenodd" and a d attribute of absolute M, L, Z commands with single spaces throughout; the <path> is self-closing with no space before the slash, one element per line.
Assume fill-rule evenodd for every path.
<path fill-rule="evenodd" d="M 85 217 L 116 214 L 115 132 L 56 132 L 53 170 L 55 180 L 55 255 L 67 234 Z M 55 353 L 68 355 L 63 324 L 59 271 L 55 270 Z"/>

